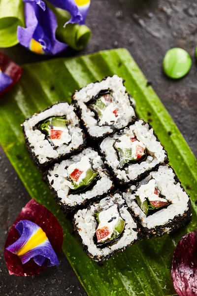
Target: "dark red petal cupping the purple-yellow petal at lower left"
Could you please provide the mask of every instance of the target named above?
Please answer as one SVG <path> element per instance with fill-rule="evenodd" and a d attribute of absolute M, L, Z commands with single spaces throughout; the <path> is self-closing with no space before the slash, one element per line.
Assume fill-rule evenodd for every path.
<path fill-rule="evenodd" d="M 47 210 L 44 206 L 37 203 L 34 199 L 30 200 L 27 205 L 22 209 L 16 221 L 8 232 L 8 236 L 4 246 L 4 259 L 9 270 L 9 274 L 15 274 L 18 276 L 29 276 L 40 273 L 46 267 L 37 265 L 33 259 L 30 259 L 27 263 L 22 264 L 21 259 L 6 250 L 8 246 L 13 244 L 20 235 L 15 225 L 21 220 L 29 220 L 36 223 L 46 233 L 56 255 L 61 251 L 64 234 L 63 229 L 55 216 Z"/>

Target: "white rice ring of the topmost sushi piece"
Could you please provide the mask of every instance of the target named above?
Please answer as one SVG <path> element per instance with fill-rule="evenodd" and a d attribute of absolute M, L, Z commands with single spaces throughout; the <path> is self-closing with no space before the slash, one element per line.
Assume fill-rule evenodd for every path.
<path fill-rule="evenodd" d="M 95 118 L 95 113 L 86 105 L 93 97 L 99 94 L 101 90 L 110 89 L 113 93 L 114 105 L 116 106 L 119 116 L 114 116 L 115 122 L 111 125 L 99 126 Z M 76 91 L 73 99 L 77 101 L 77 105 L 81 110 L 81 118 L 86 124 L 86 128 L 90 136 L 102 137 L 106 133 L 112 133 L 114 129 L 121 129 L 133 121 L 135 116 L 134 109 L 131 106 L 129 95 L 123 84 L 123 79 L 117 75 L 107 77 L 100 82 L 90 83 L 79 91 Z M 105 114 L 106 121 L 110 114 Z"/>

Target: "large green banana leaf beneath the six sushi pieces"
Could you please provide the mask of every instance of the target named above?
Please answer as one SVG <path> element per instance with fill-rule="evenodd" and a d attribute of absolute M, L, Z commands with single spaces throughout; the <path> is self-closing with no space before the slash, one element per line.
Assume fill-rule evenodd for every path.
<path fill-rule="evenodd" d="M 25 147 L 20 124 L 25 117 L 56 101 L 70 102 L 75 89 L 118 74 L 136 100 L 137 114 L 152 125 L 168 151 L 182 184 L 192 199 L 192 221 L 181 230 L 162 238 L 145 239 L 115 255 L 103 266 L 82 251 L 66 220 L 53 200 L 41 174 Z M 151 113 L 151 115 L 150 115 Z M 171 132 L 171 135 L 169 135 Z M 197 228 L 197 162 L 160 99 L 126 49 L 102 51 L 88 56 L 61 58 L 24 66 L 19 83 L 0 98 L 0 144 L 30 195 L 51 210 L 64 229 L 63 251 L 90 296 L 172 296 L 171 261 L 178 240 Z M 17 214 L 16 214 L 17 216 Z M 16 217 L 13 217 L 13 220 Z"/>

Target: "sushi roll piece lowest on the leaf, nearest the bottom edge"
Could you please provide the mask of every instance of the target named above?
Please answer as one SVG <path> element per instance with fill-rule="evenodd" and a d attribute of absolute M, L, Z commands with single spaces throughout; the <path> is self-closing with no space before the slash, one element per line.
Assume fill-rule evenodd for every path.
<path fill-rule="evenodd" d="M 73 221 L 84 251 L 95 261 L 107 260 L 140 239 L 137 224 L 119 193 L 79 210 Z"/>

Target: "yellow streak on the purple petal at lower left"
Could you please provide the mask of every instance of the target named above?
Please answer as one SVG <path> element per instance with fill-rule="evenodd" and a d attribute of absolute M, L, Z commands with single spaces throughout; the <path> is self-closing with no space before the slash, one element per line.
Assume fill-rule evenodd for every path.
<path fill-rule="evenodd" d="M 16 253 L 19 257 L 23 256 L 33 248 L 37 247 L 47 239 L 46 233 L 39 228 L 29 241 Z"/>

